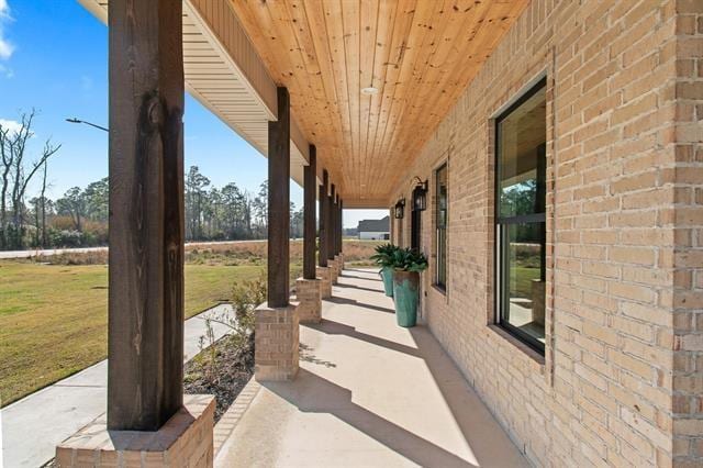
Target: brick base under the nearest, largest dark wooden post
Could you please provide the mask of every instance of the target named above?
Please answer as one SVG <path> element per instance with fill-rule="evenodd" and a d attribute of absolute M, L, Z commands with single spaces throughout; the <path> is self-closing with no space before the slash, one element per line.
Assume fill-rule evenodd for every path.
<path fill-rule="evenodd" d="M 183 408 L 156 432 L 109 431 L 104 414 L 56 447 L 56 466 L 212 467 L 215 399 L 183 395 Z"/>

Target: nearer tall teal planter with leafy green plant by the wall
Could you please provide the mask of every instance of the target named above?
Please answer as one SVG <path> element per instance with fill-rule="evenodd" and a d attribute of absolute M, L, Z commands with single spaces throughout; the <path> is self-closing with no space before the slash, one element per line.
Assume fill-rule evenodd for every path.
<path fill-rule="evenodd" d="M 427 268 L 427 257 L 412 248 L 399 248 L 391 255 L 391 260 L 395 319 L 400 326 L 415 326 L 420 302 L 420 272 Z"/>

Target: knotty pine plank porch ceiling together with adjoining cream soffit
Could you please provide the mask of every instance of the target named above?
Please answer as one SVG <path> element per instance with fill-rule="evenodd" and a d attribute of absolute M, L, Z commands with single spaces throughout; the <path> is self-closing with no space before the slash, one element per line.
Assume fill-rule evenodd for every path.
<path fill-rule="evenodd" d="M 107 22 L 109 0 L 78 1 Z M 183 0 L 186 85 L 264 155 L 276 86 L 288 87 L 291 177 L 302 183 L 310 142 L 345 208 L 384 208 L 528 3 Z"/>

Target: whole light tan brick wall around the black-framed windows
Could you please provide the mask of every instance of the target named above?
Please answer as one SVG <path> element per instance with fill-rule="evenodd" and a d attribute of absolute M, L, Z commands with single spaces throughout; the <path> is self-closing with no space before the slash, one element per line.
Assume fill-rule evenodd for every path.
<path fill-rule="evenodd" d="M 398 180 L 391 201 L 410 201 L 419 176 L 434 207 L 433 170 L 448 161 L 447 293 L 425 274 L 423 310 L 539 466 L 703 464 L 701 10 L 701 0 L 533 0 Z M 542 358 L 490 325 L 492 118 L 545 71 Z M 432 263 L 433 237 L 428 209 Z"/>

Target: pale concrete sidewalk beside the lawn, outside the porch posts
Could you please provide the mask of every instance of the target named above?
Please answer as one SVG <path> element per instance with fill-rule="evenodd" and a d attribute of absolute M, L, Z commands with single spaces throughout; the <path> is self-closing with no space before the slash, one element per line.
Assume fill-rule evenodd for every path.
<path fill-rule="evenodd" d="M 186 360 L 197 355 L 205 335 L 205 317 L 232 313 L 219 305 L 186 321 Z M 215 337 L 228 327 L 213 323 Z M 54 457 L 56 445 L 105 412 L 108 360 L 14 402 L 0 412 L 2 463 L 0 467 L 38 467 Z"/>

